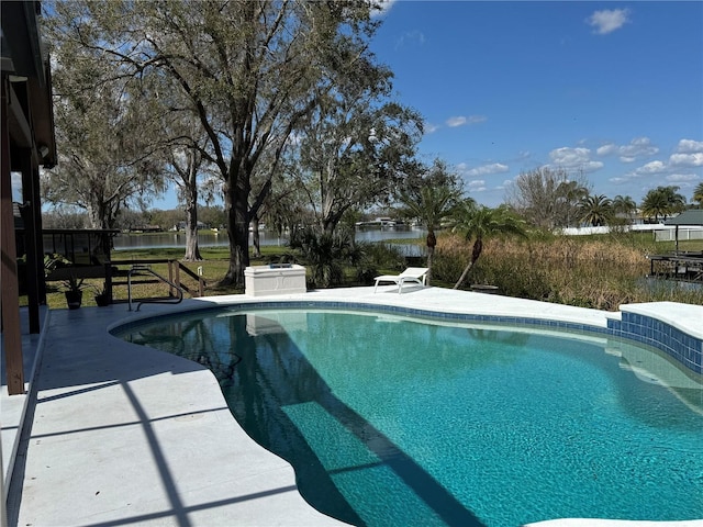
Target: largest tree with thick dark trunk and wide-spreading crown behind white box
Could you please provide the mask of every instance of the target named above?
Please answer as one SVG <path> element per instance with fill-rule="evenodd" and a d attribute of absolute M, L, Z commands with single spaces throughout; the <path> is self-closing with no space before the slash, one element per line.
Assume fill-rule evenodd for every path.
<path fill-rule="evenodd" d="M 120 76 L 167 79 L 208 135 L 203 156 L 224 183 L 230 269 L 242 284 L 249 262 L 252 177 L 265 152 L 271 177 L 292 132 L 333 88 L 331 71 L 365 75 L 375 30 L 360 1 L 58 2 L 65 38 L 114 65 Z"/>

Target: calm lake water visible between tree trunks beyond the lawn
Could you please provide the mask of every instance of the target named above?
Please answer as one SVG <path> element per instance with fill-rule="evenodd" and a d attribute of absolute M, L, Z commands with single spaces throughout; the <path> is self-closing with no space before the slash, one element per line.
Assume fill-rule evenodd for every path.
<path fill-rule="evenodd" d="M 378 243 L 386 239 L 420 239 L 427 235 L 427 231 L 419 227 L 384 227 L 384 228 L 357 228 L 357 242 Z M 280 246 L 288 244 L 288 238 L 279 237 L 276 233 L 261 231 L 259 233 L 259 242 L 261 246 Z M 226 232 L 200 231 L 198 233 L 198 244 L 200 247 L 219 247 L 228 245 Z M 252 235 L 249 235 L 249 244 L 252 244 Z M 125 234 L 122 233 L 114 238 L 114 250 L 120 249 L 154 249 L 166 247 L 186 247 L 185 233 L 154 233 L 154 234 Z M 400 244 L 399 248 L 406 256 L 420 256 L 422 254 L 422 245 Z"/>

